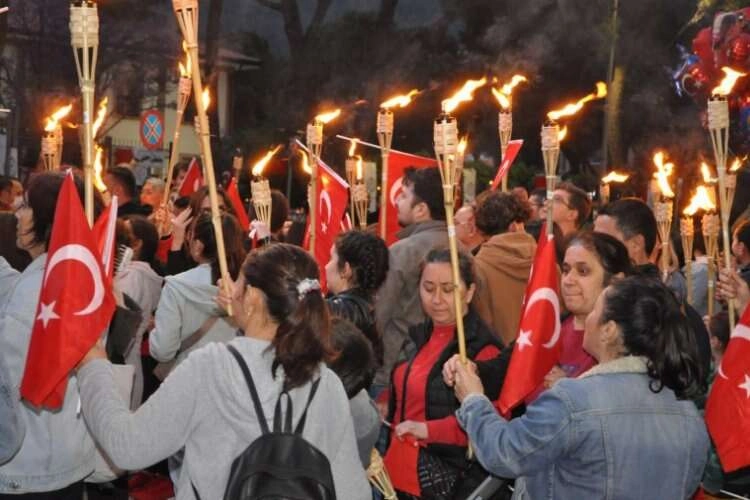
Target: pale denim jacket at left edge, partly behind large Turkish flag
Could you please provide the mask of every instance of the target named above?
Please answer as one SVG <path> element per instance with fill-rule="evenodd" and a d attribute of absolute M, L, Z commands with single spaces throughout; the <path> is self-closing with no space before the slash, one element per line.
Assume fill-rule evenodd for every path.
<path fill-rule="evenodd" d="M 31 341 L 39 290 L 47 254 L 34 259 L 15 281 L 0 307 L 0 356 L 17 395 Z M 68 378 L 65 401 L 48 411 L 20 404 L 26 434 L 20 450 L 0 466 L 1 493 L 54 491 L 80 481 L 94 471 L 94 442 L 83 415 L 75 375 Z"/>

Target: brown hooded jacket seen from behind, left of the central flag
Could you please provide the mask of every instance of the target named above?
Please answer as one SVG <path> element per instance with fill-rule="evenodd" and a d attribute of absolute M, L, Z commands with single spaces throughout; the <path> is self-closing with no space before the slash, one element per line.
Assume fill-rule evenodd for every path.
<path fill-rule="evenodd" d="M 536 242 L 525 232 L 496 234 L 474 259 L 478 285 L 472 305 L 504 345 L 516 338 Z"/>

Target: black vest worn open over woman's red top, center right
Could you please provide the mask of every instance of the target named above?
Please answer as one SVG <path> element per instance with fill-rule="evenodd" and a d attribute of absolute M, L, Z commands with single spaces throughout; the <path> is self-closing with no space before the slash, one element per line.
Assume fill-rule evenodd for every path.
<path fill-rule="evenodd" d="M 404 342 L 399 361 L 395 365 L 397 367 L 400 364 L 407 363 L 404 380 L 408 378 L 411 363 L 414 361 L 414 358 L 420 349 L 429 340 L 432 330 L 433 325 L 429 320 L 409 328 L 409 338 Z M 503 380 L 505 379 L 505 373 L 508 371 L 510 355 L 513 352 L 513 347 L 509 346 L 503 349 L 502 344 L 492 334 L 489 327 L 487 327 L 479 316 L 471 310 L 464 317 L 464 334 L 466 336 L 466 356 L 469 359 L 474 359 L 482 349 L 489 345 L 494 345 L 501 350 L 496 358 L 477 363 L 479 378 L 484 385 L 484 392 L 488 398 L 495 400 L 500 394 L 500 389 L 502 388 Z M 428 387 L 425 391 L 425 416 L 427 417 L 427 420 L 439 419 L 453 415 L 460 406 L 455 394 L 453 393 L 453 389 L 445 385 L 445 382 L 443 382 L 442 375 L 443 364 L 445 364 L 445 362 L 454 354 L 458 354 L 458 341 L 456 339 L 454 339 L 443 350 L 440 354 L 440 358 L 432 367 L 427 377 Z M 405 390 L 406 386 L 404 385 L 402 389 Z M 406 394 L 406 397 L 408 398 L 409 395 Z M 399 421 L 403 420 L 404 407 L 405 405 L 402 402 L 402 415 L 400 415 Z M 391 372 L 391 392 L 388 404 L 389 421 L 393 421 L 394 413 L 396 411 L 395 409 L 396 392 L 393 384 L 393 372 Z M 466 448 L 464 447 L 430 444 L 427 446 L 427 449 L 431 453 L 439 455 L 446 460 L 446 462 L 449 462 L 456 467 L 463 469 L 468 466 L 466 460 Z"/>

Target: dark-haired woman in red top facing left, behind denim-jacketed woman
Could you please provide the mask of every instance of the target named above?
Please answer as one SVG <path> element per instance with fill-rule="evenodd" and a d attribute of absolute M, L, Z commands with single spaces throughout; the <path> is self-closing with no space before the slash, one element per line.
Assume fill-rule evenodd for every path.
<path fill-rule="evenodd" d="M 597 297 L 613 279 L 631 274 L 628 250 L 616 238 L 583 231 L 568 243 L 562 265 L 562 299 L 570 316 L 560 328 L 562 349 L 557 365 L 544 378 L 549 388 L 563 377 L 577 377 L 596 364 L 583 349 L 583 324 Z M 541 392 L 541 391 L 539 391 Z"/>

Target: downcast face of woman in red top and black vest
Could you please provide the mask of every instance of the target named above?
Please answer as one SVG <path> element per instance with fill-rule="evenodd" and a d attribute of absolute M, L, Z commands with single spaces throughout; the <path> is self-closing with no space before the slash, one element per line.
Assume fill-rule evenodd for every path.
<path fill-rule="evenodd" d="M 447 262 L 431 262 L 424 267 L 419 281 L 419 297 L 422 309 L 435 325 L 453 325 L 456 323 L 456 309 L 453 305 L 453 273 Z M 474 285 L 466 289 L 461 281 L 463 314 L 474 294 Z"/>

